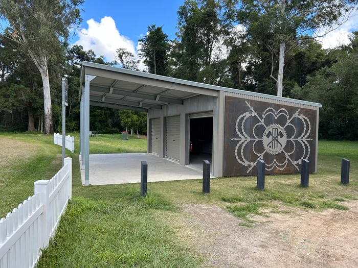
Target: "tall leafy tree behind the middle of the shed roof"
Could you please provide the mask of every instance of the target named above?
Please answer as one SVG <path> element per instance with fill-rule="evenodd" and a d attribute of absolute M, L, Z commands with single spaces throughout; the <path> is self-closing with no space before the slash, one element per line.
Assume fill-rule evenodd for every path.
<path fill-rule="evenodd" d="M 223 34 L 230 26 L 227 0 L 187 0 L 178 9 L 172 57 L 174 75 L 197 82 L 215 83 L 213 63 L 221 61 Z"/>

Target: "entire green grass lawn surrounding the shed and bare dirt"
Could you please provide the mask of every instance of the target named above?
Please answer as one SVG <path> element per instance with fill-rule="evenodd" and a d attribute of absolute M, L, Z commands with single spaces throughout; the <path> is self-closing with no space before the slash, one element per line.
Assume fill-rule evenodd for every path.
<path fill-rule="evenodd" d="M 196 267 L 200 256 L 174 233 L 182 204 L 215 204 L 251 227 L 250 215 L 262 214 L 262 207 L 287 213 L 297 208 L 345 210 L 345 201 L 358 199 L 358 142 L 319 141 L 318 173 L 310 175 L 308 189 L 299 186 L 300 175 L 266 176 L 263 192 L 255 189 L 255 177 L 216 178 L 210 194 L 202 193 L 201 180 L 184 180 L 149 183 L 149 194 L 142 198 L 139 184 L 81 186 L 75 137 L 73 200 L 39 267 Z M 120 135 L 105 134 L 90 141 L 90 153 L 146 150 L 145 139 L 126 143 Z M 0 142 L 8 146 L 4 153 L 9 156 L 0 164 L 4 216 L 32 194 L 34 181 L 55 174 L 61 148 L 52 144 L 52 136 L 38 134 L 2 133 Z M 349 186 L 340 184 L 342 157 L 351 161 Z"/>

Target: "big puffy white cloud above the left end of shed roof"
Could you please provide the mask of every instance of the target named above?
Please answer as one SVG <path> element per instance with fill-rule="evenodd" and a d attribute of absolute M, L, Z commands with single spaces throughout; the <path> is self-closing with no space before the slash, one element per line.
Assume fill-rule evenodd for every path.
<path fill-rule="evenodd" d="M 84 50 L 93 50 L 96 56 L 103 55 L 107 61 L 113 61 L 117 48 L 122 47 L 137 57 L 135 43 L 119 33 L 113 18 L 105 16 L 101 22 L 92 18 L 87 24 L 88 29 L 82 29 L 75 43 L 82 45 Z"/>

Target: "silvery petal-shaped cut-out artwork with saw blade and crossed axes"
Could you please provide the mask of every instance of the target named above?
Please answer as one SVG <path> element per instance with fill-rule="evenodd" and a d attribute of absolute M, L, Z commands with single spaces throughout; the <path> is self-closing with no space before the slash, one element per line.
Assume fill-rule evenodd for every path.
<path fill-rule="evenodd" d="M 235 144 L 230 143 L 230 148 L 235 145 L 236 161 L 245 167 L 241 173 L 255 173 L 259 159 L 265 161 L 267 171 L 285 173 L 288 166 L 287 173 L 299 173 L 302 159 L 308 160 L 312 154 L 310 143 L 314 133 L 310 119 L 300 108 L 289 107 L 289 112 L 284 106 L 277 109 L 265 106 L 257 112 L 254 105 L 245 101 L 246 111 L 236 116 L 236 123 L 232 120 L 235 135 L 230 140 Z"/>

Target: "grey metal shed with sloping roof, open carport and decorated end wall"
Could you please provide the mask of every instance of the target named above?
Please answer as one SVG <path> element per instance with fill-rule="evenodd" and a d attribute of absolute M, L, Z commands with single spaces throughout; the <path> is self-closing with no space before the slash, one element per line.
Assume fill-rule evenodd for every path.
<path fill-rule="evenodd" d="M 83 62 L 80 159 L 86 185 L 89 105 L 147 112 L 147 153 L 181 165 L 212 157 L 214 177 L 253 175 L 259 159 L 267 174 L 298 173 L 302 159 L 317 172 L 321 104 Z"/>

